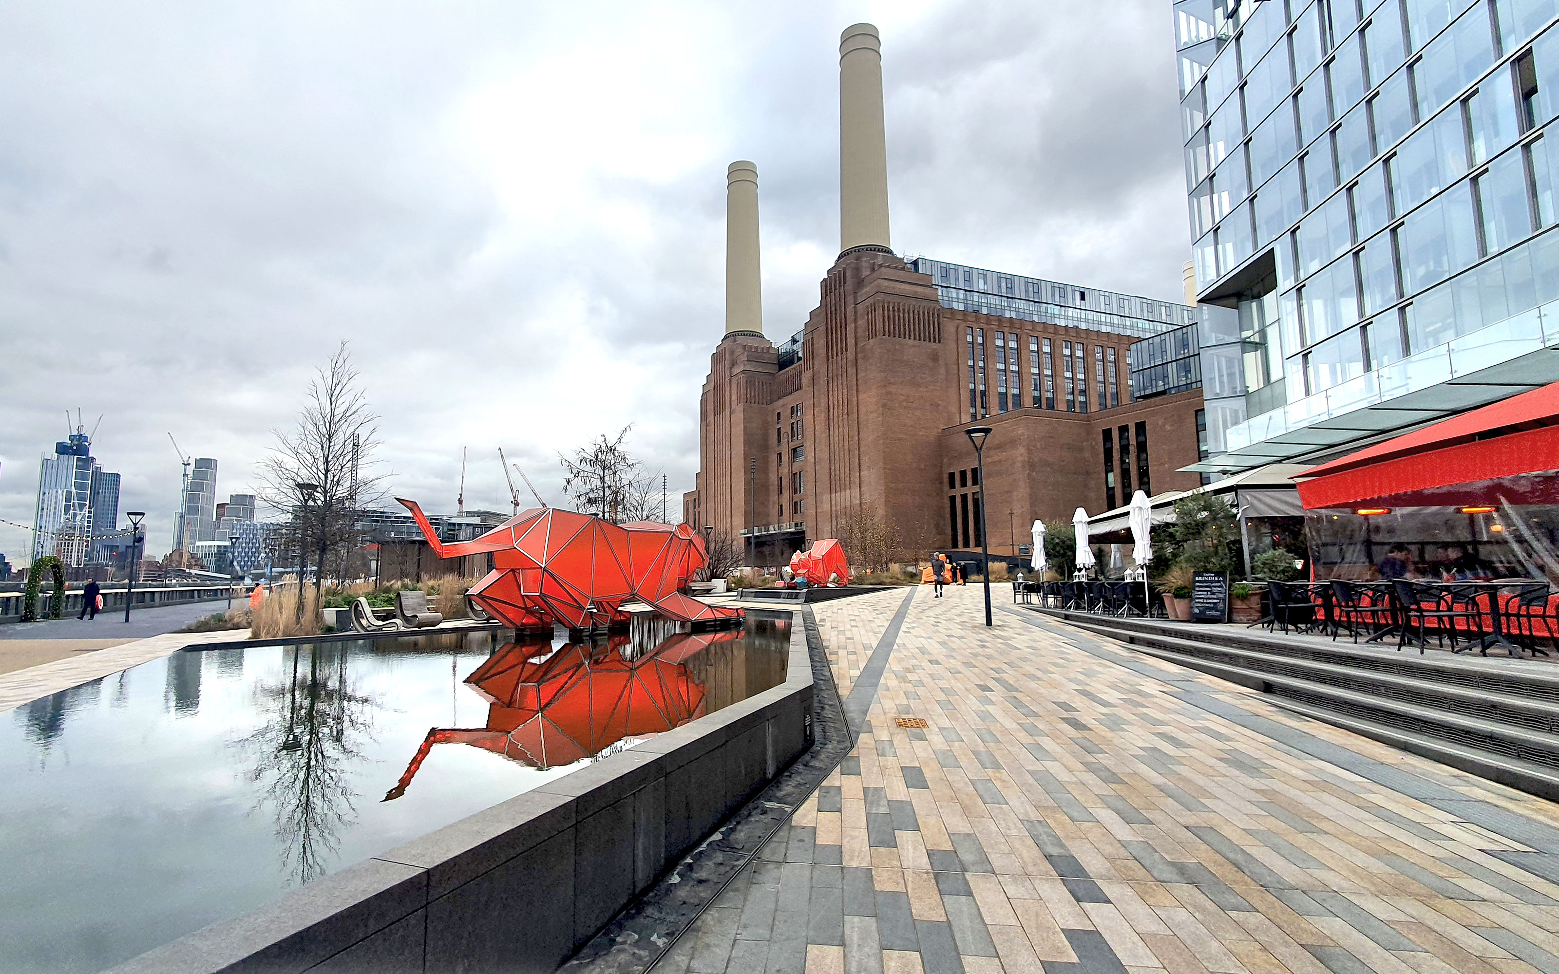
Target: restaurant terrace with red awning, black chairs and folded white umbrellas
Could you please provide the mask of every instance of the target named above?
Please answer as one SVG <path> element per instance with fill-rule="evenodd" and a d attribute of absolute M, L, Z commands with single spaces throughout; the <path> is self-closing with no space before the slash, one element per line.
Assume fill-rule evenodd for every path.
<path fill-rule="evenodd" d="M 1302 502 L 1303 536 L 1291 547 L 1303 549 L 1302 558 L 1296 552 L 1303 577 L 1263 577 L 1281 558 L 1250 556 L 1255 505 L 1238 496 L 1230 505 L 1244 542 L 1243 584 L 1261 598 L 1260 622 L 1250 625 L 1420 653 L 1559 655 L 1559 383 L 1288 475 Z M 1015 586 L 1013 598 L 1060 611 L 1165 617 L 1154 597 L 1165 567 L 1152 564 L 1151 538 L 1165 519 L 1147 508 L 1138 491 L 1129 516 L 1137 542 L 1129 577 L 1094 577 L 1090 536 L 1079 524 L 1073 577 L 1038 575 L 1046 580 Z M 1093 521 L 1096 542 L 1105 531 Z M 1157 584 L 1146 581 L 1149 569 Z"/>

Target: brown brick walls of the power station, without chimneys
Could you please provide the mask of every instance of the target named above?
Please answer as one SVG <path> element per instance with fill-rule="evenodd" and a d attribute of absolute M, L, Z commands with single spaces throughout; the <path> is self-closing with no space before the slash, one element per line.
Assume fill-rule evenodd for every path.
<path fill-rule="evenodd" d="M 1002 344 L 1010 335 L 1018 343 L 1018 369 L 1007 369 L 1016 390 L 1009 390 L 1006 411 L 998 399 L 998 333 Z M 1055 408 L 1032 405 L 1030 338 L 1037 344 L 1051 340 Z M 1118 433 L 1127 427 L 1130 489 L 1140 486 L 1140 432 L 1147 439 L 1151 492 L 1194 488 L 1197 475 L 1177 468 L 1197 460 L 1202 396 L 1194 391 L 1130 402 L 1126 351 L 1132 341 L 1076 326 L 945 309 L 931 277 L 892 254 L 847 252 L 822 282 L 800 362 L 780 369 L 773 344 L 756 335 L 728 335 L 714 349 L 700 399 L 700 469 L 695 489 L 683 497 L 683 516 L 694 527 L 733 538 L 753 525 L 769 528 L 756 535 L 758 564 L 783 563 L 803 538 L 809 544 L 839 536 L 845 519 L 862 506 L 895 525 L 917 550 L 979 547 L 973 533 L 965 539 L 962 527 L 957 535 L 953 530 L 959 505 L 973 505 L 982 492 L 967 483 L 974 450 L 963 430 L 976 424 L 970 419 L 971 344 L 984 348 L 985 362 L 987 415 L 977 422 L 995 430 L 985 446 L 992 553 L 1016 553 L 1013 542 L 1026 542 L 1035 517 L 1069 521 L 1079 506 L 1105 510 L 1105 429 L 1116 433 L 1112 447 L 1119 478 Z M 1077 408 L 1076 397 L 1074 408 L 1066 408 L 1062 343 L 1084 346 L 1088 411 Z M 1119 405 L 1099 410 L 1101 363 L 1104 399 L 1110 401 L 1110 349 Z M 1040 371 L 1043 382 L 1043 358 Z M 801 458 L 795 458 L 797 447 Z M 1126 486 L 1116 483 L 1118 505 L 1130 500 Z M 804 527 L 775 530 L 794 524 Z"/>

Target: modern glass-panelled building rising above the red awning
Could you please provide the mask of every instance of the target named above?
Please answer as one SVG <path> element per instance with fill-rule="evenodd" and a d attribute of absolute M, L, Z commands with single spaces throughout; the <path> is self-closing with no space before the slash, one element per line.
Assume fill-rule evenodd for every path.
<path fill-rule="evenodd" d="M 1210 453 L 1193 469 L 1559 380 L 1559 0 L 1174 11 Z"/>

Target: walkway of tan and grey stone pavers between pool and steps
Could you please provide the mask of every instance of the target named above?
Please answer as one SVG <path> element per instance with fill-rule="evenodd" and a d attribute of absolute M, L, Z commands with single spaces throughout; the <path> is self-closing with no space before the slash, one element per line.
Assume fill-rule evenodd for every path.
<path fill-rule="evenodd" d="M 1559 806 L 993 595 L 915 592 L 850 757 L 656 974 L 1559 972 Z M 815 606 L 840 695 L 903 600 Z"/>

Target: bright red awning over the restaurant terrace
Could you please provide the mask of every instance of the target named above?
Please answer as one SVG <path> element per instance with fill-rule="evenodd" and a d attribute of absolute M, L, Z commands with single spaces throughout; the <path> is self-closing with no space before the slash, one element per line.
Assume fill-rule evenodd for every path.
<path fill-rule="evenodd" d="M 1556 503 L 1556 472 L 1559 382 L 1349 453 L 1296 480 L 1308 511 L 1494 503 L 1500 497 Z"/>

